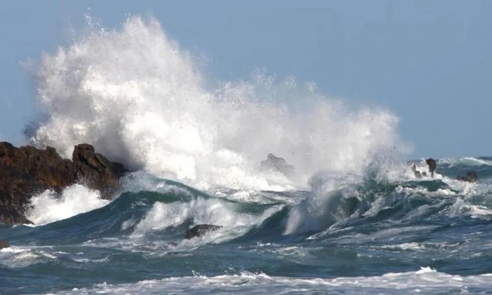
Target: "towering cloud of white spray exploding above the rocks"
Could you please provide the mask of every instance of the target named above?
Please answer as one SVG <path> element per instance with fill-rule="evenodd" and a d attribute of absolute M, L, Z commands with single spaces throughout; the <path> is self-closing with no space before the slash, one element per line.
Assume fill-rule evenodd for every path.
<path fill-rule="evenodd" d="M 406 149 L 398 118 L 350 107 L 313 83 L 265 70 L 240 81 L 207 77 L 155 19 L 89 28 L 35 67 L 41 115 L 26 134 L 65 157 L 86 142 L 130 168 L 200 189 L 305 187 L 315 172 L 359 172 L 380 150 Z M 258 170 L 270 152 L 296 176 Z M 387 156 L 390 156 L 387 154 Z"/>

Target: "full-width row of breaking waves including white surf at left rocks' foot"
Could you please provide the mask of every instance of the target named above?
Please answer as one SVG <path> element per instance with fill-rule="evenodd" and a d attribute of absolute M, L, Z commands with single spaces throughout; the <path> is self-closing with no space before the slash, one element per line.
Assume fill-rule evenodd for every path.
<path fill-rule="evenodd" d="M 63 236 L 68 244 L 120 247 L 150 239 L 188 248 L 232 240 L 324 239 L 343 228 L 383 229 L 442 216 L 492 219 L 492 198 L 484 195 L 491 191 L 487 184 L 474 185 L 480 188 L 476 192 L 441 179 L 379 183 L 354 182 L 354 177 L 360 179 L 321 174 L 311 180 L 311 191 L 257 191 L 248 193 L 245 202 L 236 191 L 214 195 L 139 172 L 129 177 L 125 191 L 112 202 L 74 185 L 60 199 L 48 191 L 34 197 L 28 217 L 46 245 L 59 243 Z M 191 243 L 183 241 L 184 231 L 197 224 L 223 228 Z M 32 231 L 17 230 L 17 236 L 31 239 Z M 107 244 L 108 238 L 116 242 Z"/>

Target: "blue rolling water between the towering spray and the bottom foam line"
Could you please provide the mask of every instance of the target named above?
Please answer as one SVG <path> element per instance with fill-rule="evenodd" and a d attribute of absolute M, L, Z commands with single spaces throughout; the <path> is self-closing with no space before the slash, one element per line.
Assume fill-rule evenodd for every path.
<path fill-rule="evenodd" d="M 483 256 L 492 211 L 477 215 L 474 210 L 492 208 L 491 198 L 460 190 L 448 179 L 365 181 L 324 193 L 284 191 L 277 200 L 285 201 L 277 203 L 244 202 L 231 198 L 237 192 L 224 198 L 164 182 L 170 187 L 134 187 L 104 207 L 47 225 L 1 227 L 13 247 L 2 251 L 0 262 L 9 266 L 0 271 L 32 274 L 44 286 L 35 290 L 42 292 L 73 289 L 71 279 L 80 269 L 85 269 L 80 287 L 184 277 L 191 271 L 216 276 L 230 267 L 319 278 L 383 275 L 422 265 L 461 275 L 490 272 Z M 256 194 L 271 200 L 276 193 Z M 329 206 L 320 206 L 321 215 L 304 216 L 306 228 L 286 233 L 292 212 L 320 204 L 309 203 L 312 199 Z M 185 240 L 184 231 L 200 223 L 223 228 Z M 42 284 L 46 277 L 38 273 L 60 283 Z M 23 285 L 9 283 L 2 290 Z"/>

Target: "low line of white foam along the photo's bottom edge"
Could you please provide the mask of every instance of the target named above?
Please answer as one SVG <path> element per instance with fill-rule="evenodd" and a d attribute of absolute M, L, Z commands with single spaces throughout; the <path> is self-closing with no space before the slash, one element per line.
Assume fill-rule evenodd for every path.
<path fill-rule="evenodd" d="M 430 267 L 421 267 L 417 271 L 390 272 L 381 276 L 358 276 L 324 278 L 296 278 L 269 276 L 265 273 L 242 271 L 237 274 L 217 276 L 170 277 L 162 280 L 145 280 L 133 284 L 111 285 L 100 283 L 92 288 L 75 288 L 72 291 L 57 294 L 157 294 L 166 293 L 213 293 L 217 288 L 225 293 L 252 294 L 269 293 L 284 294 L 320 294 L 326 293 L 327 288 L 333 293 L 343 294 L 395 294 L 395 293 L 425 293 L 446 294 L 487 292 L 490 288 L 492 274 L 460 276 L 436 271 Z M 193 286 L 190 291 L 190 286 Z M 238 289 L 240 288 L 240 289 Z"/>

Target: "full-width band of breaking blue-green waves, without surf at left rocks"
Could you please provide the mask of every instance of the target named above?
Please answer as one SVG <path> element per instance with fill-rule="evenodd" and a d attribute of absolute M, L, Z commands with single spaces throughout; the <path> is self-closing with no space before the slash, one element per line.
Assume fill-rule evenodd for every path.
<path fill-rule="evenodd" d="M 371 232 L 388 224 L 439 223 L 454 217 L 488 218 L 492 213 L 488 211 L 492 207 L 491 198 L 465 196 L 441 179 L 400 183 L 364 181 L 324 193 L 258 192 L 268 196 L 277 194 L 284 200 L 301 195 L 297 204 L 243 202 L 179 182 L 162 181 L 166 189 L 127 191 L 108 205 L 89 212 L 35 228 L 4 227 L 2 232 L 14 242 L 37 245 L 79 244 L 135 235 L 176 241 L 183 238 L 188 227 L 210 223 L 224 226 L 226 231 L 242 229 L 222 242 L 287 242 L 307 237 L 326 239 L 340 229 L 353 228 L 349 233 Z M 312 206 L 321 210 L 313 212 Z M 297 219 L 293 218 L 295 214 Z M 288 232 L 294 219 L 298 224 Z"/>

